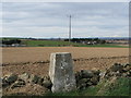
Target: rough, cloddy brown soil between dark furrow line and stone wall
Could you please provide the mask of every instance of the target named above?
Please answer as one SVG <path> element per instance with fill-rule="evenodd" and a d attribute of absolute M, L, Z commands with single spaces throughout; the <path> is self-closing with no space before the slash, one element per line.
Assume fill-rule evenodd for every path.
<path fill-rule="evenodd" d="M 74 60 L 74 71 L 84 70 L 105 70 L 111 66 L 114 63 L 128 63 L 128 57 L 114 57 L 114 58 L 94 58 L 94 59 L 76 59 Z M 29 63 L 23 65 L 5 65 L 2 66 L 3 75 L 8 73 L 22 74 L 23 72 L 46 75 L 48 74 L 49 63 Z"/>

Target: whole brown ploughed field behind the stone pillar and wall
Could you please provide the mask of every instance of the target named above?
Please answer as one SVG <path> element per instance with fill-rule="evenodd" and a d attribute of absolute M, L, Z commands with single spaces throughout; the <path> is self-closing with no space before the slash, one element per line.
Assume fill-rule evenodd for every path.
<path fill-rule="evenodd" d="M 2 73 L 48 74 L 51 52 L 71 52 L 74 70 L 105 70 L 114 63 L 129 63 L 129 48 L 19 47 L 2 48 Z"/>

